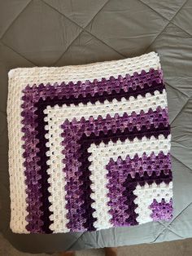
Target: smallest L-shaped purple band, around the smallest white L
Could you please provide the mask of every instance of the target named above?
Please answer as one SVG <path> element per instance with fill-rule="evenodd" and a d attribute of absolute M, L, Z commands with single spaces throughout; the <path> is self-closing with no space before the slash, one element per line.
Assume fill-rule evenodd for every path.
<path fill-rule="evenodd" d="M 109 189 L 107 196 L 110 198 L 108 205 L 111 206 L 109 213 L 114 227 L 137 224 L 137 214 L 134 213 L 137 207 L 134 204 L 136 196 L 133 191 L 137 183 L 141 182 L 141 177 L 146 175 L 145 183 L 149 182 L 147 176 L 153 176 L 154 182 L 158 182 L 158 179 L 165 181 L 167 178 L 168 180 L 172 179 L 170 154 L 164 155 L 164 152 L 159 152 L 158 156 L 152 152 L 148 157 L 146 152 L 142 154 L 142 157 L 138 157 L 136 154 L 133 159 L 128 155 L 124 160 L 118 157 L 117 161 L 111 158 L 106 169 L 108 170 L 107 188 Z M 126 183 L 128 175 L 130 183 Z M 135 179 L 136 177 L 137 179 Z M 167 178 L 164 179 L 164 177 Z"/>

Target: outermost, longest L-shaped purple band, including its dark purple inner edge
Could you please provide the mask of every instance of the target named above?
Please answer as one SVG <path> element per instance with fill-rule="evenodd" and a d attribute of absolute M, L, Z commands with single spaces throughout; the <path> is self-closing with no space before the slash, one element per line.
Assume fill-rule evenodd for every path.
<path fill-rule="evenodd" d="M 96 100 L 103 102 L 105 99 L 112 100 L 122 97 L 129 99 L 130 95 L 145 95 L 146 92 L 153 92 L 164 89 L 162 83 L 163 76 L 161 70 L 151 69 L 149 73 L 142 71 L 142 74 L 134 73 L 132 77 L 119 76 L 117 79 L 110 77 L 109 80 L 103 78 L 102 82 L 94 80 L 94 82 L 85 83 L 72 82 L 65 85 L 62 83 L 54 86 L 50 84 L 44 86 L 26 86 L 23 90 L 22 97 L 24 109 L 21 113 L 24 117 L 22 131 L 24 132 L 24 167 L 26 175 L 26 184 L 28 189 L 28 221 L 27 230 L 29 232 L 51 232 L 49 229 L 51 214 L 49 210 L 50 202 L 48 196 L 49 183 L 47 179 L 49 175 L 46 173 L 46 130 L 44 126 L 46 122 L 43 120 L 45 115 L 43 110 L 47 105 L 55 104 L 78 104 L 88 101 L 94 103 Z M 91 88 L 91 89 L 90 89 Z M 85 97 L 86 96 L 86 97 Z"/>

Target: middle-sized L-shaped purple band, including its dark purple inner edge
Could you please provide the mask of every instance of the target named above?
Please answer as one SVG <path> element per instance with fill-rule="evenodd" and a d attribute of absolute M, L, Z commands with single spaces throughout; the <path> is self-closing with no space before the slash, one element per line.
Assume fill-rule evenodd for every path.
<path fill-rule="evenodd" d="M 89 120 L 85 120 L 82 117 L 81 121 L 76 121 L 74 118 L 72 122 L 65 121 L 62 128 L 65 156 L 63 171 L 67 181 L 66 201 L 68 201 L 70 231 L 94 230 L 95 219 L 92 217 L 94 210 L 90 207 L 93 200 L 90 198 L 92 191 L 89 187 L 91 181 L 88 160 L 90 155 L 88 148 L 91 143 L 99 144 L 102 141 L 107 143 L 110 139 L 113 141 L 117 139 L 124 141 L 135 137 L 141 139 L 143 136 L 150 138 L 151 135 L 157 137 L 160 134 L 167 136 L 170 133 L 167 109 L 161 108 L 140 115 L 135 113 L 131 116 L 124 113 L 123 117 L 118 114 L 115 117 L 107 115 L 106 119 L 99 116 L 98 119 L 89 117 Z"/>

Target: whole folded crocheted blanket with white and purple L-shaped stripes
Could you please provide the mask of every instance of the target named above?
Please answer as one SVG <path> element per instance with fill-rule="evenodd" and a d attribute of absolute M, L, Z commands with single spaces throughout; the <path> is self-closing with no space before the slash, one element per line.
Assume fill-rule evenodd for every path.
<path fill-rule="evenodd" d="M 13 232 L 172 218 L 167 95 L 155 52 L 12 69 L 7 116 Z"/>

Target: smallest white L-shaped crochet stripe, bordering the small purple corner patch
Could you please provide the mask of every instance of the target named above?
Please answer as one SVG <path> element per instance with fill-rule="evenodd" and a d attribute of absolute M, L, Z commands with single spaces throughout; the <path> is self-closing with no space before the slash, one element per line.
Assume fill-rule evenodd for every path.
<path fill-rule="evenodd" d="M 137 185 L 137 188 L 133 191 L 133 194 L 137 196 L 134 200 L 134 203 L 137 204 L 137 209 L 135 212 L 138 214 L 137 223 L 143 224 L 151 222 L 152 210 L 149 208 L 149 205 L 152 204 L 153 200 L 160 202 L 162 198 L 166 202 L 169 202 L 172 199 L 172 182 L 152 183 L 151 185 L 146 184 L 144 187 Z"/>

